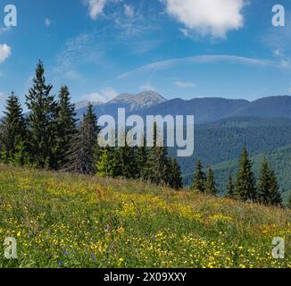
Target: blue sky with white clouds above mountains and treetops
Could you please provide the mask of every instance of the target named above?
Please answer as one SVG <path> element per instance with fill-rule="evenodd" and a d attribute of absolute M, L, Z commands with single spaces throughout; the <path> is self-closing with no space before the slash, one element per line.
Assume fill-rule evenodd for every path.
<path fill-rule="evenodd" d="M 4 7 L 17 7 L 17 27 Z M 285 27 L 272 7 L 285 7 Z M 24 102 L 38 60 L 54 94 L 107 102 L 154 90 L 168 99 L 291 94 L 288 0 L 0 0 L 0 111 Z M 24 107 L 24 106 L 23 106 Z"/>

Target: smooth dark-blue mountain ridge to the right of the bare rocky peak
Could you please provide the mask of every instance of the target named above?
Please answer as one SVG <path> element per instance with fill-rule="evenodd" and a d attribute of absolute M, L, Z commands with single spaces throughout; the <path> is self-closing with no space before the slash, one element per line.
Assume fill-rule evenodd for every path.
<path fill-rule="evenodd" d="M 191 100 L 176 98 L 143 109 L 140 114 L 143 117 L 156 114 L 195 115 L 196 124 L 237 116 L 291 118 L 291 97 L 264 97 L 253 102 L 211 97 Z"/>

